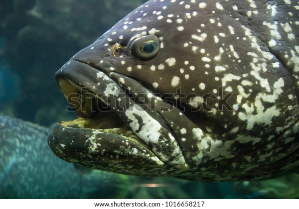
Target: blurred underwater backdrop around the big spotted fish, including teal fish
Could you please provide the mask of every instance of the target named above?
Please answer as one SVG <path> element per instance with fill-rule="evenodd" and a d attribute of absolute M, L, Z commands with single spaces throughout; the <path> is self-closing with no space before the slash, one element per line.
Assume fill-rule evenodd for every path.
<path fill-rule="evenodd" d="M 10 116 L 0 116 L 0 198 L 299 198 L 298 174 L 232 183 L 135 177 L 74 166 L 50 151 L 47 127 L 76 118 L 55 72 L 146 1 L 0 0 L 0 115 Z"/>

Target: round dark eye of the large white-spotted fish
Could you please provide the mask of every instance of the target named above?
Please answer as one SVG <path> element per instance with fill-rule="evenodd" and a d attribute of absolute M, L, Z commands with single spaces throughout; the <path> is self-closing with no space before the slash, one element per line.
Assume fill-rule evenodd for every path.
<path fill-rule="evenodd" d="M 160 42 L 155 35 L 146 35 L 133 40 L 130 50 L 132 55 L 139 60 L 154 58 L 160 49 Z"/>

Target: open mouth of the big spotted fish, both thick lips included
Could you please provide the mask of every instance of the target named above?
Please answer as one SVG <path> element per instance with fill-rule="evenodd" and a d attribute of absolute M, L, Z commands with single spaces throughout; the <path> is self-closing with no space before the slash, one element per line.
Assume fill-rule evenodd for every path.
<path fill-rule="evenodd" d="M 161 115 L 149 106 L 141 107 L 136 95 L 123 90 L 118 81 L 129 78 L 104 72 L 71 60 L 55 74 L 70 104 L 67 110 L 79 118 L 50 127 L 48 144 L 54 154 L 68 162 L 125 174 L 136 175 L 145 164 L 152 170 L 163 166 L 187 169 Z"/>

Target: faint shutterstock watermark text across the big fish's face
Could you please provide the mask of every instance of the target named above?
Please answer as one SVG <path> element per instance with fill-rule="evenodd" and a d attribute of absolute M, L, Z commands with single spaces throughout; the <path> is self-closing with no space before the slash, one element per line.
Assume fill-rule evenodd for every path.
<path fill-rule="evenodd" d="M 224 92 L 223 87 L 217 88 L 217 93 L 206 93 L 203 95 L 191 93 L 184 94 L 181 88 L 175 94 L 159 93 L 135 93 L 130 89 L 114 89 L 108 93 L 92 94 L 86 88 L 81 88 L 76 93 L 69 94 L 67 101 L 70 106 L 67 111 L 96 112 L 96 111 L 118 111 L 130 110 L 135 106 L 145 111 L 171 111 L 177 108 L 180 111 L 233 111 L 229 99 L 233 93 Z M 137 104 L 137 105 L 136 105 Z"/>

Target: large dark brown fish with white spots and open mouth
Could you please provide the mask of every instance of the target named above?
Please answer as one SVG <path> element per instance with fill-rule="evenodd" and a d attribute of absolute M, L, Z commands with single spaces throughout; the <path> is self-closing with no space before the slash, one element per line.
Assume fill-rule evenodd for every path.
<path fill-rule="evenodd" d="M 60 158 L 200 181 L 299 171 L 295 0 L 149 0 L 56 73 Z"/>

